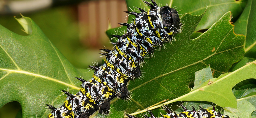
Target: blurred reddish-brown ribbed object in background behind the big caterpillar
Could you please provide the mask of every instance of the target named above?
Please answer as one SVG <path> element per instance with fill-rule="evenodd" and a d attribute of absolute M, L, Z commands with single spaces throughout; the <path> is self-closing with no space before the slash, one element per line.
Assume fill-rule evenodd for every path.
<path fill-rule="evenodd" d="M 77 9 L 79 37 L 85 47 L 101 48 L 99 46 L 108 44 L 105 31 L 109 22 L 112 28 L 116 28 L 120 26 L 117 23 L 126 23 L 127 20 L 127 14 L 123 12 L 127 10 L 125 0 L 85 1 Z"/>

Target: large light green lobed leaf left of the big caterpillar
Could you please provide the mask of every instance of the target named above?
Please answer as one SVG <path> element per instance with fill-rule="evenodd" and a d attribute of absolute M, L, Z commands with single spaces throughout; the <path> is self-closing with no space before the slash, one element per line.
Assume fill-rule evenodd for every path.
<path fill-rule="evenodd" d="M 76 93 L 80 83 L 74 77 L 89 80 L 93 73 L 76 69 L 30 18 L 21 19 L 31 32 L 28 36 L 0 25 L 0 108 L 17 101 L 23 118 L 46 117 L 50 112 L 45 104 L 63 105 L 65 96 L 60 89 Z"/>

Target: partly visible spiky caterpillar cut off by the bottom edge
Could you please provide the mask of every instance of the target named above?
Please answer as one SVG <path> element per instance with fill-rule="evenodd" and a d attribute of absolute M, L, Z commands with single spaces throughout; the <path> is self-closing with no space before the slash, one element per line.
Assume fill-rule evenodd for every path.
<path fill-rule="evenodd" d="M 227 115 L 223 115 L 220 113 L 220 111 L 215 111 L 215 107 L 212 106 L 212 110 L 204 109 L 201 106 L 199 110 L 196 111 L 196 109 L 192 106 L 193 110 L 188 110 L 185 106 L 183 106 L 181 103 L 179 103 L 181 107 L 183 108 L 183 112 L 177 114 L 176 112 L 172 112 L 168 107 L 164 106 L 164 108 L 167 110 L 166 115 L 162 115 L 162 117 L 158 118 L 229 118 Z M 150 117 L 144 116 L 145 118 L 156 118 L 154 114 L 148 110 Z M 129 118 L 138 118 L 135 116 L 131 116 L 126 114 Z"/>

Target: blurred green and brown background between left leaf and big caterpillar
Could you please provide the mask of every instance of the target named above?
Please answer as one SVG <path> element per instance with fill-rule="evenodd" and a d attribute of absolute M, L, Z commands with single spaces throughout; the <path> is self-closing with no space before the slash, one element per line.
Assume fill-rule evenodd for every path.
<path fill-rule="evenodd" d="M 30 17 L 77 68 L 102 62 L 99 49 L 111 49 L 105 31 L 126 23 L 125 0 L 0 0 L 0 24 L 26 35 L 13 18 Z M 89 56 L 88 56 L 89 55 Z"/>

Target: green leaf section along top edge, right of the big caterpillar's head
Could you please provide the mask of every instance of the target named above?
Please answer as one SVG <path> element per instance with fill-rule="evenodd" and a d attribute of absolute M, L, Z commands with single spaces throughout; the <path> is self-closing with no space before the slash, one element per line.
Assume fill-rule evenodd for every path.
<path fill-rule="evenodd" d="M 206 8 L 207 12 L 204 14 L 200 23 L 198 24 L 195 31 L 209 29 L 216 21 L 218 21 L 224 13 L 227 11 L 232 12 L 233 17 L 239 16 L 246 5 L 246 0 L 193 0 L 193 1 L 185 1 L 185 0 L 168 0 L 168 5 L 171 7 L 177 6 L 177 10 L 180 14 L 190 13 L 194 15 L 200 15 Z"/>

